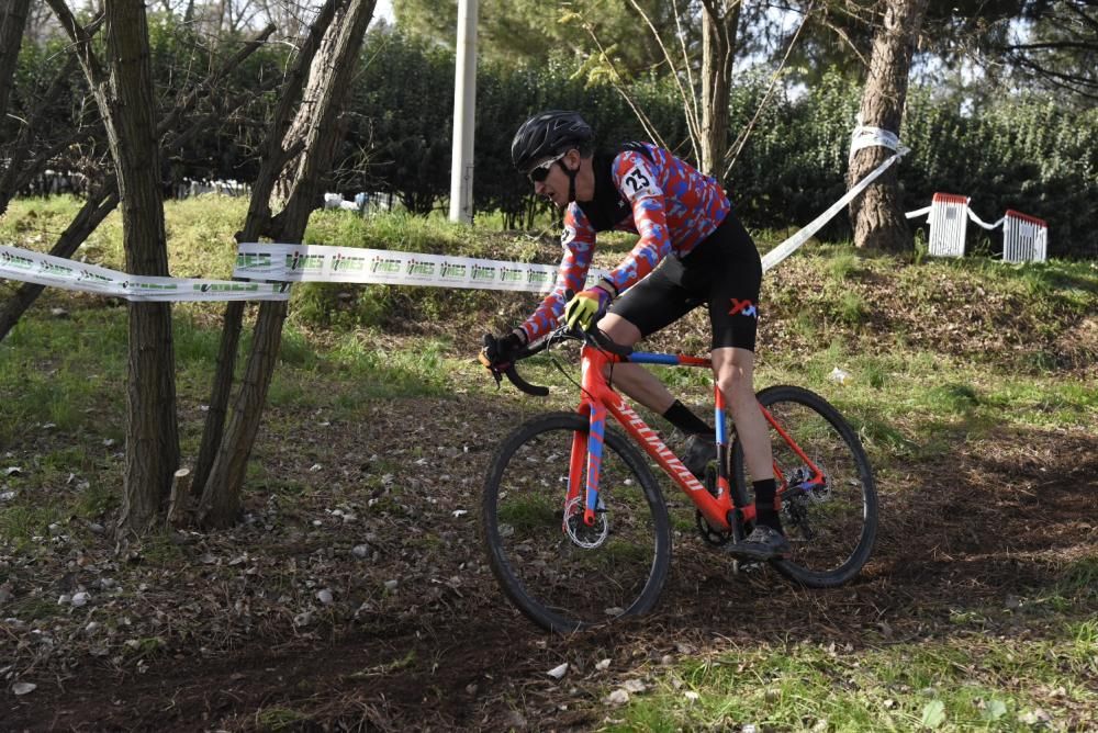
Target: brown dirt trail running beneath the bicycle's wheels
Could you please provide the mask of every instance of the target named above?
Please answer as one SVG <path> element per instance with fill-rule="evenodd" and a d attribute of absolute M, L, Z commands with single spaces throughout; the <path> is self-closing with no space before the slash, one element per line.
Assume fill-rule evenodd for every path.
<path fill-rule="evenodd" d="M 452 409 L 452 403 L 425 407 L 447 404 Z M 478 439 L 472 436 L 471 475 L 482 470 L 490 444 Z M 462 563 L 475 566 L 475 523 L 439 529 L 442 542 L 421 541 L 430 530 L 412 517 L 439 512 L 437 506 L 408 506 L 408 516 L 393 508 L 384 525 L 391 533 L 382 530 L 372 540 L 386 548 L 384 556 L 356 573 L 376 574 L 359 577 L 363 585 L 412 578 L 399 599 L 307 630 L 273 622 L 269 635 L 234 636 L 220 647 L 202 643 L 215 618 L 187 618 L 197 624 L 191 643 L 169 642 L 148 656 L 144 672 L 79 655 L 74 666 L 38 678 L 33 693 L 2 693 L 0 728 L 502 730 L 525 721 L 536 729 L 584 729 L 598 721 L 583 709 L 615 673 L 658 664 L 665 655 L 706 653 L 728 639 L 861 649 L 948 638 L 955 632 L 951 613 L 988 608 L 1004 609 L 989 618 L 993 627 L 1035 634 L 1017 598 L 1055 583 L 1065 562 L 1098 552 L 1096 448 L 1086 435 L 1011 432 L 945 461 L 905 466 L 908 485 L 881 487 L 874 559 L 860 579 L 834 590 L 795 589 L 769 570 L 727 575 L 719 555 L 696 537 L 679 535 L 656 613 L 569 639 L 539 633 L 506 605 L 483 567 L 450 585 L 414 580 L 425 567 L 427 575 L 447 577 L 462 572 Z M 469 506 L 469 485 L 449 486 L 452 495 L 433 498 L 446 507 Z M 423 495 L 404 500 L 416 497 Z M 311 516 L 307 507 L 296 511 Z M 267 551 L 313 556 L 324 544 L 352 541 L 338 530 L 323 542 L 305 538 L 304 544 Z M 130 609 L 148 610 L 136 604 Z M 201 645 L 212 649 L 200 654 Z M 606 657 L 614 661 L 610 672 L 596 672 L 595 663 Z M 565 661 L 571 670 L 564 680 L 550 679 L 547 670 Z"/>

